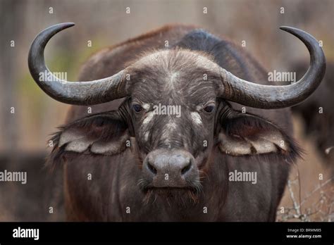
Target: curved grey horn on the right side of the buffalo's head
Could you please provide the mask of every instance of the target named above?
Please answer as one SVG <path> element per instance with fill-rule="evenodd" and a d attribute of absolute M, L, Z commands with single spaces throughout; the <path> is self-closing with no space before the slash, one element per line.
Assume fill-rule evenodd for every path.
<path fill-rule="evenodd" d="M 316 90 L 326 71 L 326 58 L 318 41 L 297 28 L 282 26 L 280 29 L 298 37 L 307 46 L 311 56 L 307 73 L 293 84 L 271 86 L 242 80 L 221 68 L 221 96 L 224 99 L 254 108 L 285 108 L 304 101 Z"/>

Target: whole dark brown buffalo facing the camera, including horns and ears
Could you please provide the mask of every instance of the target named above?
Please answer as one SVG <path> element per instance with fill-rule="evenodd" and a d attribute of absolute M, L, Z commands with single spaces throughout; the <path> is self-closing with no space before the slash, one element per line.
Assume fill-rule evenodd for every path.
<path fill-rule="evenodd" d="M 289 107 L 307 99 L 326 70 L 314 37 L 280 27 L 311 57 L 307 73 L 284 86 L 269 84 L 240 46 L 187 25 L 103 49 L 83 65 L 80 82 L 68 82 L 49 71 L 44 47 L 73 25 L 40 32 L 28 57 L 39 87 L 73 105 L 48 158 L 63 166 L 68 220 L 276 220 L 301 153 Z"/>

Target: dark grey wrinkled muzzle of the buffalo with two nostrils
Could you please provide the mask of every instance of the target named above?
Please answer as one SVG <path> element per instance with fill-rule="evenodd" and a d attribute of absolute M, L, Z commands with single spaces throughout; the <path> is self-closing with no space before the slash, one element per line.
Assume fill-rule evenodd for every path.
<path fill-rule="evenodd" d="M 199 182 L 194 157 L 187 151 L 157 149 L 144 159 L 144 188 L 189 188 Z"/>

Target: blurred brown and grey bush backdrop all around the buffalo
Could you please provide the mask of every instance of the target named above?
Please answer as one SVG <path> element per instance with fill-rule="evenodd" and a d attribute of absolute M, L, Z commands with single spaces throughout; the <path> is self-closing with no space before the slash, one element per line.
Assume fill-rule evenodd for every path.
<path fill-rule="evenodd" d="M 27 68 L 32 40 L 50 25 L 76 24 L 51 39 L 45 52 L 50 70 L 66 72 L 68 80 L 99 49 L 171 23 L 245 41 L 266 70 L 300 76 L 307 49 L 278 29 L 298 27 L 321 40 L 328 63 L 334 62 L 333 0 L 0 0 L 0 20 L 0 171 L 27 171 L 28 178 L 27 184 L 0 182 L 2 221 L 64 220 L 61 171 L 50 174 L 43 166 L 51 149 L 47 139 L 65 121 L 68 105 L 44 94 Z M 328 74 L 333 70 L 328 65 Z M 292 168 L 278 221 L 334 220 L 334 81 L 328 74 L 322 89 L 294 109 L 295 138 L 306 153 Z"/>

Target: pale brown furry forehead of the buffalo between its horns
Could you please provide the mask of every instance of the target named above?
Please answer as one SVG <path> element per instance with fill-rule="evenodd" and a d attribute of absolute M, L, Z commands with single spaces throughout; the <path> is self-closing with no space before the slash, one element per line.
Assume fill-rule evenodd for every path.
<path fill-rule="evenodd" d="M 219 66 L 208 54 L 188 49 L 146 53 L 129 66 L 133 96 L 145 101 L 165 99 L 198 103 L 211 99 L 220 79 Z M 147 98 L 147 94 L 150 94 Z M 175 96 L 176 95 L 176 96 Z"/>

